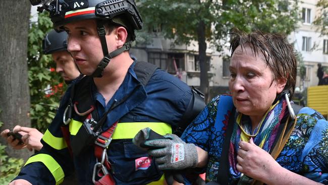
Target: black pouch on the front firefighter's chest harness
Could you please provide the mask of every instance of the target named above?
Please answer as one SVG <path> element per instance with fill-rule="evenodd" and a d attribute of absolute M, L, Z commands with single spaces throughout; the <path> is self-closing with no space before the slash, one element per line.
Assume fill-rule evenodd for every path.
<path fill-rule="evenodd" d="M 93 121 L 93 120 L 92 120 Z M 91 122 L 92 122 L 91 121 Z M 77 134 L 73 137 L 71 147 L 74 156 L 78 156 L 88 147 L 92 146 L 98 138 L 98 132 L 93 132 L 90 126 L 90 120 L 85 120 L 83 126 L 79 129 Z"/>

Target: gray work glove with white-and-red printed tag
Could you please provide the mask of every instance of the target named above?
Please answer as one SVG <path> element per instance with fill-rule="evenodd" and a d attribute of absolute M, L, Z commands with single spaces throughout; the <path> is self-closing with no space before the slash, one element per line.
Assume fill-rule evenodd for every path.
<path fill-rule="evenodd" d="M 185 169 L 196 167 L 198 155 L 194 144 L 186 144 L 175 134 L 164 135 L 166 139 L 148 140 L 148 154 L 155 157 L 158 169 Z M 169 138 L 169 139 L 167 139 Z"/>

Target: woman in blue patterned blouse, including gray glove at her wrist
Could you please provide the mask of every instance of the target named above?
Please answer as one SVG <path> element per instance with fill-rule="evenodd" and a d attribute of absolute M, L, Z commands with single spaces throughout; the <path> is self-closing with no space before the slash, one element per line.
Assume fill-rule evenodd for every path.
<path fill-rule="evenodd" d="M 205 170 L 211 184 L 328 184 L 328 121 L 308 107 L 294 114 L 286 36 L 235 31 L 230 50 L 231 96 L 212 99 L 181 138 L 144 140 L 143 129 L 134 143 L 159 169 Z"/>

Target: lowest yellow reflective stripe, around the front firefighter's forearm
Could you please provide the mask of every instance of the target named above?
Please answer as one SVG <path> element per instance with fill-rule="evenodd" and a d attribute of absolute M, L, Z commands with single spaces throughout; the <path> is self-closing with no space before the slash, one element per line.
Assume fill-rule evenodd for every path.
<path fill-rule="evenodd" d="M 30 157 L 24 166 L 33 162 L 43 163 L 51 172 L 53 178 L 56 180 L 56 185 L 63 182 L 65 174 L 62 167 L 48 154 L 37 154 Z"/>

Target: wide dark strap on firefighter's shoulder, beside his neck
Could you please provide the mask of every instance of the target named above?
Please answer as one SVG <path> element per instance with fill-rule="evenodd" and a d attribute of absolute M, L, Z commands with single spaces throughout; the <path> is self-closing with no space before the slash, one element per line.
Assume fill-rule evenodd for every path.
<path fill-rule="evenodd" d="M 137 75 L 138 80 L 146 86 L 150 77 L 158 67 L 150 64 L 149 62 L 137 61 L 134 65 L 134 72 Z"/>

